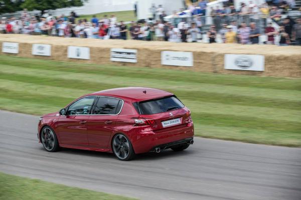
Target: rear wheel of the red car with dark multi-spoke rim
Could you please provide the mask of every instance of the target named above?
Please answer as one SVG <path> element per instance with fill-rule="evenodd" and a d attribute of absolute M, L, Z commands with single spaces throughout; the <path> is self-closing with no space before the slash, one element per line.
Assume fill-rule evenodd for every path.
<path fill-rule="evenodd" d="M 135 152 L 130 140 L 122 133 L 117 133 L 112 139 L 112 151 L 122 161 L 131 160 Z"/>

